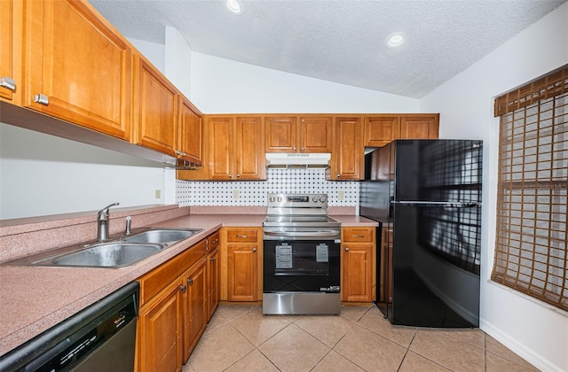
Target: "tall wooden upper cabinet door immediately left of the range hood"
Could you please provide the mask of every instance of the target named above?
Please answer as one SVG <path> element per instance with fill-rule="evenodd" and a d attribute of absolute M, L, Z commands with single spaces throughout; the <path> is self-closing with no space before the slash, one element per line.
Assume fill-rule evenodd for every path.
<path fill-rule="evenodd" d="M 234 157 L 237 180 L 265 179 L 264 133 L 258 117 L 237 117 Z"/>

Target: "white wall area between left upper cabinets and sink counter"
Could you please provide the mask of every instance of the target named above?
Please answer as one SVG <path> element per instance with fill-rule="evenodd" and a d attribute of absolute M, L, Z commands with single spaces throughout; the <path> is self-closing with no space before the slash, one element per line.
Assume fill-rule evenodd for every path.
<path fill-rule="evenodd" d="M 0 220 L 162 204 L 160 164 L 0 123 Z"/>

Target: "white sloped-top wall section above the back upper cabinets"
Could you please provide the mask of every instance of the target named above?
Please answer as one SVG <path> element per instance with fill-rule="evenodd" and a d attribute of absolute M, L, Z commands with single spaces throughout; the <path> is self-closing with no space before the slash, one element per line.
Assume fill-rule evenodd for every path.
<path fill-rule="evenodd" d="M 192 54 L 192 102 L 204 113 L 419 112 L 414 98 Z"/>

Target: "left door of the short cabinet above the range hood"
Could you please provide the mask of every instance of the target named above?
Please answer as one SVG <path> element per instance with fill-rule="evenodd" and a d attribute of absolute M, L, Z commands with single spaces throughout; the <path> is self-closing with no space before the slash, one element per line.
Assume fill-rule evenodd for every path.
<path fill-rule="evenodd" d="M 266 152 L 296 152 L 296 117 L 264 118 Z"/>

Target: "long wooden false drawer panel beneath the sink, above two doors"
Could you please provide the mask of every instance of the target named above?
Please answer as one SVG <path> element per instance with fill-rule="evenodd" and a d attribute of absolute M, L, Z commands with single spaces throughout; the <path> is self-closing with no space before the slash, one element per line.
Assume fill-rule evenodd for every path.
<path fill-rule="evenodd" d="M 192 267 L 195 262 L 205 256 L 207 244 L 205 240 L 192 245 L 190 248 L 178 254 L 173 259 L 164 262 L 161 266 L 154 268 L 148 274 L 140 277 L 140 306 L 144 305 L 157 293 L 162 291 L 164 286 L 174 281 L 177 276 Z"/>

